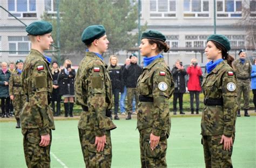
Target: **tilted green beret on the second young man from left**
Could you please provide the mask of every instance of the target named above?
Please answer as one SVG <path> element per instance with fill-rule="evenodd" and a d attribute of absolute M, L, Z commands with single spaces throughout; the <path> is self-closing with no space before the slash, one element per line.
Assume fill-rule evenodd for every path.
<path fill-rule="evenodd" d="M 106 34 L 105 28 L 103 25 L 92 25 L 86 27 L 82 34 L 82 41 L 85 44 L 91 44 L 93 40 L 99 39 L 100 37 Z"/>

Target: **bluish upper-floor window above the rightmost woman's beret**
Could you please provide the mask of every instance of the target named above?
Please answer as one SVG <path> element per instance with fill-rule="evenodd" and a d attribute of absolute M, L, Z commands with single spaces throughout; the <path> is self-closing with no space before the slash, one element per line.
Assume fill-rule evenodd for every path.
<path fill-rule="evenodd" d="M 217 0 L 217 17 L 241 17 L 241 0 Z"/>

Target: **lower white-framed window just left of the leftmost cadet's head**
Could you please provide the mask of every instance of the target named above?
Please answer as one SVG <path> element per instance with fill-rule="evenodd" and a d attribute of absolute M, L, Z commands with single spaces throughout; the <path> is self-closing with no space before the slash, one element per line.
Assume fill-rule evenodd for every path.
<path fill-rule="evenodd" d="M 28 36 L 8 36 L 9 54 L 26 55 L 29 54 L 31 45 Z"/>

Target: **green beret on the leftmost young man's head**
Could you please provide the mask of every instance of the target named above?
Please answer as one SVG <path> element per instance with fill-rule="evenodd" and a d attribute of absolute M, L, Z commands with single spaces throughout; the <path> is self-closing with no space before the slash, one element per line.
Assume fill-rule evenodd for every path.
<path fill-rule="evenodd" d="M 50 33 L 51 31 L 51 23 L 44 20 L 32 22 L 30 25 L 26 26 L 26 32 L 28 32 L 29 35 L 43 35 L 46 33 Z"/>

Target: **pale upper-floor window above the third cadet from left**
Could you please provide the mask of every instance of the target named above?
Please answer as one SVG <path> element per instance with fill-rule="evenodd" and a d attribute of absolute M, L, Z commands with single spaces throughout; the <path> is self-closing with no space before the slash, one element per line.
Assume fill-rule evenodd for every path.
<path fill-rule="evenodd" d="M 176 0 L 150 0 L 150 17 L 176 17 Z"/>

